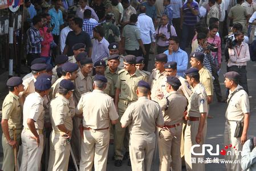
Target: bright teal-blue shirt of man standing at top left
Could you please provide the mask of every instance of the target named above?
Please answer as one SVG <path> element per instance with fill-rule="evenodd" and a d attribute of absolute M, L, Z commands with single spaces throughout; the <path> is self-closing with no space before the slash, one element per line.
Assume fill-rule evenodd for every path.
<path fill-rule="evenodd" d="M 51 25 L 55 24 L 54 29 L 52 30 L 53 35 L 59 35 L 60 34 L 60 25 L 63 25 L 63 17 L 62 17 L 62 11 L 58 10 L 58 12 L 55 10 L 55 8 L 52 8 L 48 11 L 48 13 L 51 15 Z M 57 43 L 57 42 L 55 42 Z"/>

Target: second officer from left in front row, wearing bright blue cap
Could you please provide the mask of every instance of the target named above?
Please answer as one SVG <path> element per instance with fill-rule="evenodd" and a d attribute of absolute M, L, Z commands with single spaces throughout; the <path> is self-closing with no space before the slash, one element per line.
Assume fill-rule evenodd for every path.
<path fill-rule="evenodd" d="M 23 107 L 22 163 L 20 170 L 40 170 L 43 153 L 44 107 L 43 97 L 48 95 L 51 80 L 38 76 L 35 92 L 26 97 Z"/>

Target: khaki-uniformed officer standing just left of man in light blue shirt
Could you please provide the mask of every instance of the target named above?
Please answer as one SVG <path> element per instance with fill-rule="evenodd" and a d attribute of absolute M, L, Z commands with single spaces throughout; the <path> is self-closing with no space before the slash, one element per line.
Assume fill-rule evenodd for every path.
<path fill-rule="evenodd" d="M 157 94 L 163 92 L 165 87 L 162 87 L 162 79 L 165 78 L 164 64 L 167 63 L 166 54 L 158 54 L 155 59 L 155 69 L 149 77 L 149 84 L 151 84 L 151 99 L 157 101 Z"/>

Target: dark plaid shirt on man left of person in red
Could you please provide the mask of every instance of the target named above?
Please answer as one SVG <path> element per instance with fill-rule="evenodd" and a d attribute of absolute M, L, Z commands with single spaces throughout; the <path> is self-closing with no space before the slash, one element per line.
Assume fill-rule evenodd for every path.
<path fill-rule="evenodd" d="M 41 43 L 43 42 L 39 30 L 34 26 L 27 30 L 27 54 L 41 54 Z"/>

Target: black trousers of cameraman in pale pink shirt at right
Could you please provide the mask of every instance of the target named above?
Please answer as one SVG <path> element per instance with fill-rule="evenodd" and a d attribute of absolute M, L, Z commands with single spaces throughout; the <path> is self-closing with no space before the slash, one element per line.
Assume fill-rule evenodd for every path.
<path fill-rule="evenodd" d="M 235 71 L 235 72 L 237 72 L 240 75 L 238 83 L 243 87 L 243 89 L 249 95 L 248 85 L 247 85 L 246 66 L 231 66 L 231 67 L 227 67 L 227 72 L 229 72 L 229 71 Z"/>

